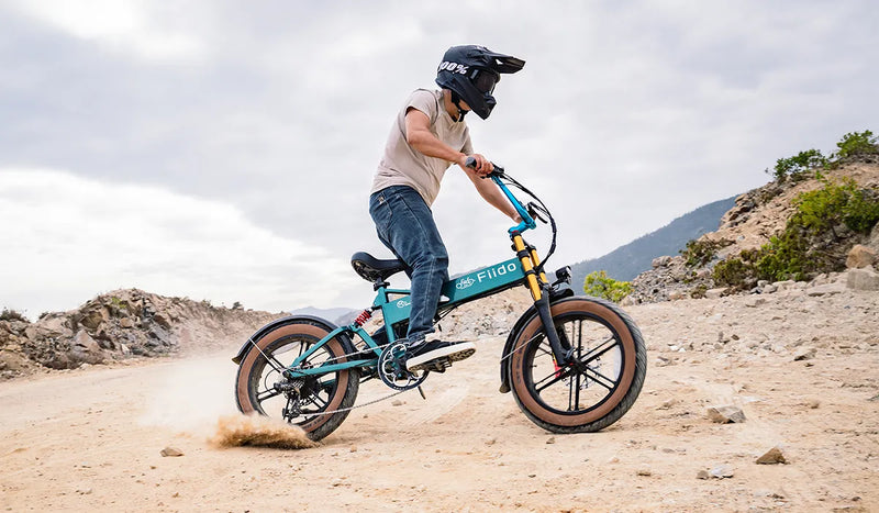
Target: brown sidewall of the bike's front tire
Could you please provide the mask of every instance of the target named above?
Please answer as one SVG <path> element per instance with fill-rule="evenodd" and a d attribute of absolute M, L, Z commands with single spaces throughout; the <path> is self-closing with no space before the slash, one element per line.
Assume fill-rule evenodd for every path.
<path fill-rule="evenodd" d="M 612 419 L 610 422 L 601 423 L 601 426 L 590 428 L 590 425 L 600 423 L 600 421 L 610 415 L 614 409 L 620 406 L 623 400 L 626 398 L 627 393 L 633 388 L 633 383 L 635 383 L 636 364 L 638 364 L 638 360 L 642 360 L 644 363 L 643 367 L 646 367 L 646 356 L 643 355 L 644 349 L 643 342 L 641 341 L 641 334 L 637 333 L 633 336 L 632 330 L 630 330 L 628 325 L 631 321 L 626 322 L 626 320 L 624 320 L 616 311 L 612 309 L 613 306 L 611 306 L 610 303 L 603 303 L 603 301 L 578 298 L 567 301 L 559 301 L 558 303 L 553 304 L 550 308 L 553 319 L 569 313 L 583 312 L 602 319 L 604 322 L 610 324 L 619 335 L 620 346 L 623 352 L 623 372 L 617 381 L 616 389 L 610 397 L 604 398 L 603 402 L 601 402 L 598 408 L 588 410 L 581 414 L 556 413 L 547 409 L 547 406 L 541 404 L 531 392 L 531 388 L 527 383 L 527 377 L 525 375 L 525 366 L 527 365 L 527 361 L 525 361 L 525 354 L 527 350 L 524 349 L 523 346 L 527 344 L 528 341 L 531 341 L 534 335 L 537 334 L 537 332 L 543 330 L 543 323 L 541 322 L 539 316 L 534 315 L 534 317 L 520 331 L 519 336 L 516 337 L 515 344 L 513 345 L 512 356 L 510 358 L 510 381 L 513 393 L 515 394 L 520 406 L 526 413 L 534 416 L 532 420 L 535 420 L 535 422 L 541 421 L 537 423 L 545 428 L 558 426 L 561 428 L 570 428 L 563 431 L 597 431 L 605 425 L 611 424 L 619 419 L 619 416 L 622 416 L 622 413 L 625 412 L 621 412 L 616 419 Z M 637 343 L 635 341 L 636 337 Z M 642 347 L 638 347 L 639 345 Z M 641 358 L 637 358 L 638 350 L 642 353 Z M 641 376 L 641 380 L 636 383 L 637 390 L 635 390 L 635 397 L 637 397 L 637 393 L 641 391 L 643 375 Z M 634 398 L 631 398 L 631 401 L 634 402 Z M 630 405 L 631 404 L 626 404 L 625 410 L 627 410 Z"/>

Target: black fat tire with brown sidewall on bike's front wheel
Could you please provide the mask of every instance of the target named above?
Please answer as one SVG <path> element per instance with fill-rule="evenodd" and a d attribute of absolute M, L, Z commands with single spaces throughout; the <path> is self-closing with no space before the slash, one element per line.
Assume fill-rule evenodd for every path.
<path fill-rule="evenodd" d="M 509 358 L 509 377 L 516 404 L 528 420 L 553 433 L 601 431 L 619 421 L 632 408 L 644 386 L 647 352 L 641 331 L 632 317 L 616 304 L 599 298 L 565 299 L 554 303 L 550 312 L 556 327 L 569 320 L 587 319 L 602 324 L 613 333 L 622 353 L 620 381 L 602 401 L 582 413 L 560 413 L 545 404 L 535 391 L 533 358 L 537 347 L 541 344 L 548 346 L 548 343 L 543 342 L 543 324 L 535 313 L 515 334 Z M 527 345 L 533 347 L 525 347 Z M 577 408 L 579 411 L 579 403 Z"/>

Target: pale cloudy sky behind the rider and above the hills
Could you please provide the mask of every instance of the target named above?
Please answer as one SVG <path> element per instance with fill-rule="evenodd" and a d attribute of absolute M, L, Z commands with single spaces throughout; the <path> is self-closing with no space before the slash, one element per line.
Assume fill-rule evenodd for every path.
<path fill-rule="evenodd" d="M 877 26 L 869 0 L 0 0 L 0 306 L 368 305 L 376 164 L 456 44 L 526 60 L 475 147 L 555 213 L 549 267 L 598 257 L 879 131 Z M 509 258 L 509 221 L 443 187 L 452 271 Z"/>

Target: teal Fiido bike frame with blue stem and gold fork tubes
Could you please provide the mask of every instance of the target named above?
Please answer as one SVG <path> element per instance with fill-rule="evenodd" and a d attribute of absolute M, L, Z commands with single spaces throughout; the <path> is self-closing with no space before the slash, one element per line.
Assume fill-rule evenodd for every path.
<path fill-rule="evenodd" d="M 500 187 L 501 191 L 503 191 L 504 196 L 507 196 L 507 198 L 515 208 L 516 212 L 519 212 L 519 215 L 522 218 L 522 222 L 519 223 L 519 225 L 509 230 L 510 238 L 513 241 L 513 248 L 516 250 L 516 257 L 446 281 L 443 285 L 442 294 L 447 299 L 439 302 L 437 312 L 447 313 L 464 303 L 492 295 L 520 285 L 526 285 L 528 287 L 535 302 L 539 301 L 546 295 L 545 292 L 548 289 L 548 286 L 546 282 L 546 277 L 542 271 L 538 270 L 539 261 L 537 259 L 536 250 L 533 247 L 526 246 L 522 239 L 522 232 L 535 228 L 537 224 L 534 221 L 534 216 L 528 213 L 528 210 L 522 205 L 522 203 L 515 198 L 515 196 L 513 196 L 507 185 L 501 181 L 500 177 L 503 176 L 503 170 L 497 166 L 496 168 L 499 169 L 499 171 L 491 174 L 489 178 L 491 178 L 491 180 L 493 180 L 494 183 Z M 387 283 L 381 283 L 380 286 L 377 286 L 376 291 L 377 295 L 372 302 L 372 306 L 365 311 L 365 314 L 381 310 L 385 320 L 383 330 L 387 334 L 388 345 L 390 345 L 397 341 L 393 326 L 409 320 L 409 313 L 411 310 L 411 302 L 409 299 L 410 290 L 390 289 L 387 287 Z M 548 301 L 545 302 L 547 304 L 548 312 Z M 369 315 L 367 314 L 366 316 L 368 317 Z M 385 346 L 376 343 L 372 336 L 370 336 L 366 330 L 363 328 L 361 324 L 361 322 L 355 321 L 347 326 L 341 326 L 333 330 L 313 346 L 303 352 L 302 355 L 300 355 L 296 360 L 293 360 L 293 363 L 290 364 L 290 366 L 283 371 L 283 375 L 287 378 L 294 379 L 305 376 L 320 376 L 327 372 L 336 372 L 354 367 L 376 367 L 378 357 L 381 355 Z M 375 354 L 375 358 L 351 359 L 351 355 L 347 355 L 349 358 L 348 361 L 335 363 L 333 360 L 329 360 L 318 367 L 302 367 L 303 363 L 308 361 L 308 358 L 314 354 L 314 352 L 319 350 L 324 344 L 340 335 L 349 337 L 352 337 L 352 335 L 356 335 L 363 339 L 364 344 L 366 345 L 365 348 L 358 352 L 358 355 L 369 355 L 372 353 Z"/>

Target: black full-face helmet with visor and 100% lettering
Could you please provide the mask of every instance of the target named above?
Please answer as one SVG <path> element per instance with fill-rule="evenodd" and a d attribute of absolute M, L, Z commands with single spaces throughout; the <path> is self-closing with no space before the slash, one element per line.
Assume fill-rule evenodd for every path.
<path fill-rule="evenodd" d="M 491 52 L 485 46 L 453 46 L 443 55 L 436 70 L 436 83 L 452 91 L 452 101 L 458 110 L 461 110 L 460 100 L 464 100 L 485 120 L 498 103 L 491 93 L 501 74 L 513 74 L 524 66 L 524 60 Z"/>

